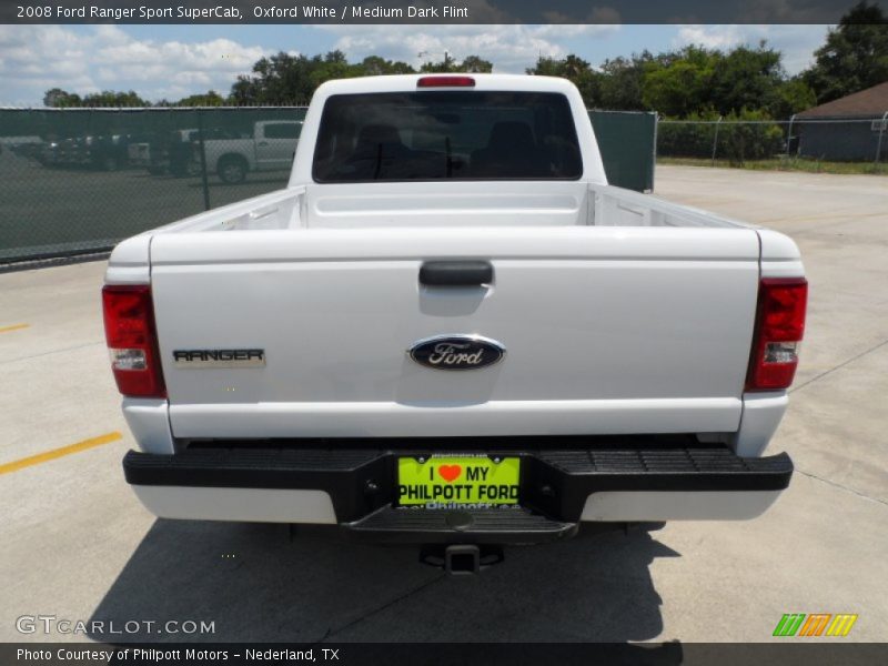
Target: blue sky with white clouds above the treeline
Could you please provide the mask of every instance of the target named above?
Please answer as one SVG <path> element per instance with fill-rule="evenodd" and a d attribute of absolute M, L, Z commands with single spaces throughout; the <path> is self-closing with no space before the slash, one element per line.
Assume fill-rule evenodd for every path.
<path fill-rule="evenodd" d="M 238 74 L 279 51 L 341 49 L 350 61 L 382 56 L 418 65 L 481 56 L 494 71 L 523 73 L 539 56 L 576 53 L 593 65 L 644 49 L 757 46 L 784 52 L 797 73 L 813 61 L 828 26 L 0 26 L 0 105 L 41 107 L 51 88 L 85 94 L 134 90 L 171 101 L 212 89 L 228 94 Z M 423 53 L 424 56 L 420 56 Z"/>

